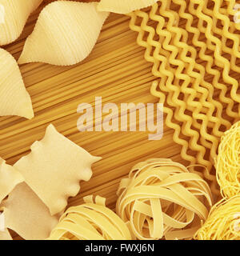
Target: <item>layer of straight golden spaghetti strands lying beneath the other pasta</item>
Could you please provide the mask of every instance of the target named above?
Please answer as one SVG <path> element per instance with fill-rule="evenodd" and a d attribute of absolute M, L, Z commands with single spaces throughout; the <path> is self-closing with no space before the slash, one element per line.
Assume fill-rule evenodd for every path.
<path fill-rule="evenodd" d="M 18 40 L 3 48 L 18 59 L 26 37 L 34 28 L 43 4 L 32 14 Z M 180 146 L 172 140 L 173 130 L 164 126 L 160 141 L 148 140 L 148 132 L 79 132 L 77 107 L 83 102 L 102 103 L 158 102 L 150 95 L 151 65 L 143 58 L 144 49 L 135 42 L 137 34 L 129 29 L 129 18 L 110 14 L 94 50 L 75 66 L 50 66 L 30 63 L 20 66 L 26 89 L 32 98 L 35 117 L 0 118 L 0 156 L 9 164 L 30 152 L 31 144 L 43 138 L 46 126 L 57 130 L 102 161 L 93 166 L 90 182 L 81 182 L 80 194 L 70 198 L 69 206 L 82 203 L 88 194 L 106 198 L 114 209 L 120 180 L 134 164 L 147 158 L 172 158 L 182 161 Z M 114 58 L 113 58 L 114 57 Z M 113 75 L 114 74 L 114 75 Z"/>

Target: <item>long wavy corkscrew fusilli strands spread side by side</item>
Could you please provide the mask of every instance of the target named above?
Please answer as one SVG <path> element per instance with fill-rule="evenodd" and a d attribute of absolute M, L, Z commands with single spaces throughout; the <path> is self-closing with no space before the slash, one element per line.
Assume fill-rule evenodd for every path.
<path fill-rule="evenodd" d="M 182 158 L 205 166 L 204 176 L 219 194 L 214 158 L 220 138 L 238 120 L 239 29 L 234 1 L 160 0 L 130 15 L 146 61 L 160 78 L 151 93 L 164 103 L 166 126 Z"/>

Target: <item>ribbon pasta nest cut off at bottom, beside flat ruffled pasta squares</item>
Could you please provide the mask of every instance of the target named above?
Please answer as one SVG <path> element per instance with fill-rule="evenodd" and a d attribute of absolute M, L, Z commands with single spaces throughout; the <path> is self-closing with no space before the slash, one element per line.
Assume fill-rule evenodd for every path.
<path fill-rule="evenodd" d="M 85 203 L 66 210 L 50 240 L 130 240 L 128 227 L 105 206 L 105 198 L 87 196 Z"/>

